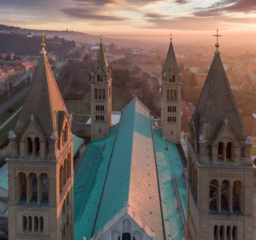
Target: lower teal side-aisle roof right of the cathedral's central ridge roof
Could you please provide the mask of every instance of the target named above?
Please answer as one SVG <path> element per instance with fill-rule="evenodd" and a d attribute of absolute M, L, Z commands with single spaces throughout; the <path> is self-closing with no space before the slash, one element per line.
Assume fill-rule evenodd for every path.
<path fill-rule="evenodd" d="M 184 231 L 172 176 L 175 176 L 177 180 L 184 180 L 182 163 L 176 145 L 163 140 L 161 129 L 154 126 L 153 135 L 166 239 L 180 240 L 184 237 Z M 166 150 L 166 144 L 168 145 L 168 150 Z M 180 188 L 186 191 L 186 183 L 183 188 L 182 186 Z M 182 196 L 180 198 L 184 200 Z"/>

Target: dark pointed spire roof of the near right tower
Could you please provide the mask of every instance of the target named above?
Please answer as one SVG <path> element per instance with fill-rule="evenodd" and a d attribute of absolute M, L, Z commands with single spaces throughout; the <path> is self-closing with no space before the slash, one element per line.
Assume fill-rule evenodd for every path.
<path fill-rule="evenodd" d="M 238 140 L 245 140 L 246 133 L 227 79 L 220 52 L 215 51 L 204 87 L 193 115 L 195 133 L 214 139 L 218 128 L 227 118 L 228 126 Z"/>

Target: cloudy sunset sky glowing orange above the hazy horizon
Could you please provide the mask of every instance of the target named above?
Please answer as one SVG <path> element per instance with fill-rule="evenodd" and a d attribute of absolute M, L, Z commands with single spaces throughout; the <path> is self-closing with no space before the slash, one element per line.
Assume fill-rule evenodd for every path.
<path fill-rule="evenodd" d="M 105 35 L 168 30 L 195 36 L 217 27 L 233 36 L 256 32 L 255 0 L 1 0 L 0 9 L 0 23 L 32 29 Z"/>

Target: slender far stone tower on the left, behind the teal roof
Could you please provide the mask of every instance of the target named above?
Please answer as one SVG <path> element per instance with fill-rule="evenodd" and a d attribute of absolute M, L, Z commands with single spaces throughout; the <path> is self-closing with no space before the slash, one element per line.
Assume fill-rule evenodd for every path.
<path fill-rule="evenodd" d="M 91 141 L 108 137 L 111 112 L 111 69 L 108 66 L 101 38 L 91 80 Z"/>

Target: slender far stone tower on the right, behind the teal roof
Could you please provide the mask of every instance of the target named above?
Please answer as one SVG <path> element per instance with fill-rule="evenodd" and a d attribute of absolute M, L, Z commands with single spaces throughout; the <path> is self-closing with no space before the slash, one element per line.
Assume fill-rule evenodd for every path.
<path fill-rule="evenodd" d="M 172 38 L 162 74 L 161 127 L 163 137 L 169 142 L 178 144 L 181 132 L 181 83 Z"/>

